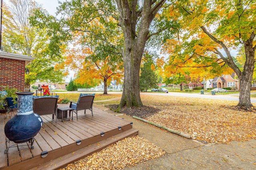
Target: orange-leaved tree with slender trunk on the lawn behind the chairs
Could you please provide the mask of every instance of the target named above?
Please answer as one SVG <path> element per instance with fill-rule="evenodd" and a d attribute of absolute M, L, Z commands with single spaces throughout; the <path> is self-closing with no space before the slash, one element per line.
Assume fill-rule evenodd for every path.
<path fill-rule="evenodd" d="M 75 82 L 95 85 L 99 84 L 100 80 L 103 80 L 103 94 L 108 94 L 107 87 L 110 84 L 110 80 L 116 80 L 121 83 L 123 77 L 122 60 L 110 57 L 109 54 L 108 52 L 96 54 L 89 48 L 68 51 L 66 63 L 72 66 L 73 70 L 78 71 Z"/>

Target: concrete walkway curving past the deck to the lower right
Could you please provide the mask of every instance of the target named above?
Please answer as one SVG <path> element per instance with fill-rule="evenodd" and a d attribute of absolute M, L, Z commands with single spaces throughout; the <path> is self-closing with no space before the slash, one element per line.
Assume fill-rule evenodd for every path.
<path fill-rule="evenodd" d="M 118 100 L 119 98 L 114 99 Z M 94 104 L 94 107 L 98 107 L 108 113 L 116 114 L 110 109 L 97 104 Z M 119 117 L 133 122 L 133 127 L 139 130 L 140 137 L 147 139 L 167 152 L 166 155 L 158 159 L 148 160 L 134 167 L 126 167 L 125 170 L 256 169 L 256 140 L 247 142 L 234 141 L 230 145 L 204 145 L 198 141 L 163 131 L 127 115 L 120 115 Z"/>

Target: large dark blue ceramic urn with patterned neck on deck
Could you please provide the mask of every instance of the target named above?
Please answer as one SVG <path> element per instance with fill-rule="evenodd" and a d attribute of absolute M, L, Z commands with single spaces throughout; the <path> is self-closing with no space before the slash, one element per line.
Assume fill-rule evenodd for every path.
<path fill-rule="evenodd" d="M 4 126 L 6 137 L 14 143 L 31 141 L 42 127 L 42 118 L 33 112 L 34 92 L 16 92 L 18 95 L 17 114 Z"/>

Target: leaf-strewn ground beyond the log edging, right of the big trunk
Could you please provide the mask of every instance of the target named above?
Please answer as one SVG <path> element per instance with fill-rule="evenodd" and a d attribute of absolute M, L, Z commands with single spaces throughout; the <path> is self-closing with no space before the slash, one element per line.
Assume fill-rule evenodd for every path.
<path fill-rule="evenodd" d="M 256 110 L 236 107 L 238 102 L 174 96 L 141 95 L 144 107 L 120 110 L 198 141 L 225 143 L 256 139 Z M 110 107 L 116 107 L 111 105 Z"/>

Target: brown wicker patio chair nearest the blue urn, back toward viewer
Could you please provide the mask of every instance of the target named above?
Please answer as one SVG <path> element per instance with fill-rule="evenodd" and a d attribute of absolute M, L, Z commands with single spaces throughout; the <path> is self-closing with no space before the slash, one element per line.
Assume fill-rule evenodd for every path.
<path fill-rule="evenodd" d="M 38 115 L 52 115 L 52 119 L 57 122 L 57 107 L 58 98 L 54 97 L 43 97 L 34 98 L 33 100 L 33 111 Z"/>

